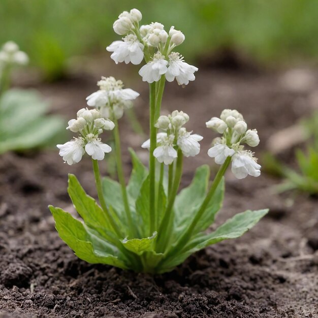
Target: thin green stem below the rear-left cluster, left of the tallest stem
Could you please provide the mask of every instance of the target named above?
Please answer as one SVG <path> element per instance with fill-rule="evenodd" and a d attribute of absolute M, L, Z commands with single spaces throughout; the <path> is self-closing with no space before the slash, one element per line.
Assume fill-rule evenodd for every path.
<path fill-rule="evenodd" d="M 118 180 L 121 186 L 121 194 L 122 194 L 122 200 L 124 204 L 124 209 L 126 213 L 126 218 L 128 220 L 128 229 L 131 231 L 131 234 L 133 237 L 138 237 L 137 230 L 132 218 L 132 213 L 129 207 L 129 202 L 128 202 L 128 195 L 126 191 L 126 182 L 125 182 L 125 177 L 123 174 L 123 169 L 122 169 L 122 158 L 121 158 L 121 147 L 120 147 L 120 136 L 119 136 L 119 126 L 118 126 L 118 121 L 114 116 L 114 140 L 115 140 L 115 153 L 116 153 L 116 167 L 117 167 L 117 175 L 118 175 Z"/>

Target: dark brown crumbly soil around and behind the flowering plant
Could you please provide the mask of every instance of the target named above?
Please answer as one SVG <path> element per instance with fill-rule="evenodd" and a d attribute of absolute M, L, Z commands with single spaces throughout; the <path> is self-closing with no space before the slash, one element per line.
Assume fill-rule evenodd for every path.
<path fill-rule="evenodd" d="M 54 112 L 73 118 L 97 79 L 39 88 Z M 272 133 L 309 114 L 313 88 L 290 90 L 281 79 L 209 70 L 184 89 L 167 85 L 163 109 L 184 110 L 188 128 L 205 136 L 201 154 L 185 163 L 183 185 L 197 166 L 211 163 L 206 151 L 214 136 L 204 123 L 222 109 L 238 109 L 258 129 L 258 154 Z M 141 92 L 136 111 L 146 122 L 147 87 L 135 82 L 126 81 Z M 125 118 L 121 134 L 123 149 L 133 146 L 145 156 L 142 138 L 131 137 Z M 128 174 L 126 152 L 124 161 Z M 59 239 L 47 205 L 73 210 L 69 172 L 95 195 L 88 158 L 69 167 L 57 150 L 0 157 L 0 317 L 318 317 L 317 199 L 277 195 L 272 186 L 280 180 L 266 174 L 236 180 L 229 173 L 216 223 L 246 209 L 269 207 L 269 214 L 242 238 L 208 247 L 171 273 L 150 276 L 87 264 Z"/>

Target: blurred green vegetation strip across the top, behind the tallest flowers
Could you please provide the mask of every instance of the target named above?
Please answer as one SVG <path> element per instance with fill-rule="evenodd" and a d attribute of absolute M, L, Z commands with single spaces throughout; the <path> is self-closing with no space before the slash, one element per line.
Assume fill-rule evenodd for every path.
<path fill-rule="evenodd" d="M 132 7 L 186 35 L 188 61 L 231 52 L 262 66 L 317 62 L 316 0 L 1 0 L 0 43 L 18 43 L 46 80 L 63 75 L 75 56 L 105 53 L 118 40 L 112 24 Z M 106 57 L 106 55 L 105 55 Z"/>

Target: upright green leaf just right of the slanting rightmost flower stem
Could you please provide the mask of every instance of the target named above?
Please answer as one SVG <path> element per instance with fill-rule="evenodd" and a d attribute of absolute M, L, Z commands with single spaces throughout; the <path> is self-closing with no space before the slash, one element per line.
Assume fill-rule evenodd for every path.
<path fill-rule="evenodd" d="M 211 198 L 205 212 L 203 213 L 200 221 L 198 222 L 195 233 L 205 231 L 211 224 L 214 222 L 214 218 L 216 213 L 222 207 L 223 199 L 224 199 L 224 192 L 225 192 L 225 181 L 224 177 L 218 184 L 213 197 Z"/>

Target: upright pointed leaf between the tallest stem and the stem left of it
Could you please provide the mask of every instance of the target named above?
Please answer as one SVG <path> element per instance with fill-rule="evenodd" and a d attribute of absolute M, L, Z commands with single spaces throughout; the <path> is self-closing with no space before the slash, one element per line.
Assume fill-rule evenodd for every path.
<path fill-rule="evenodd" d="M 127 192 L 131 199 L 135 202 L 138 198 L 142 183 L 147 178 L 148 170 L 139 160 L 135 151 L 132 148 L 130 148 L 129 151 L 132 156 L 133 171 L 127 185 Z"/>

